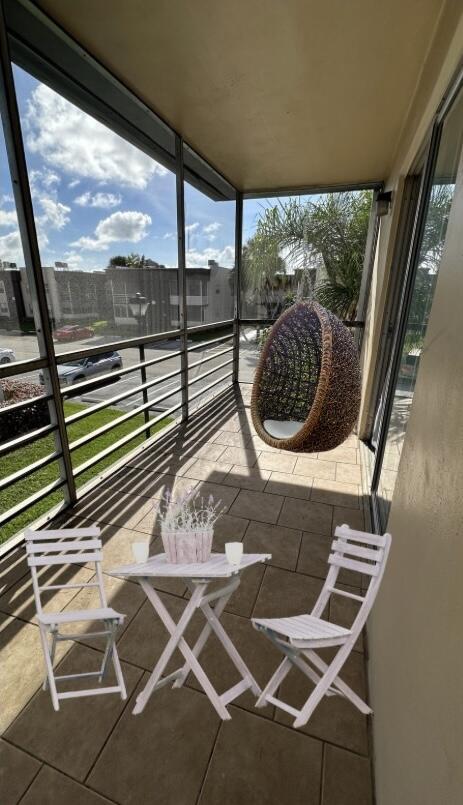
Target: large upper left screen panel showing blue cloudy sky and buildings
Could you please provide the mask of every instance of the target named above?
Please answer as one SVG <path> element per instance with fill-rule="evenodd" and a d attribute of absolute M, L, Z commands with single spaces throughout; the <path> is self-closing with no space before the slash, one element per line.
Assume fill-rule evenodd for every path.
<path fill-rule="evenodd" d="M 24 70 L 14 76 L 55 332 L 88 328 L 77 348 L 175 329 L 175 174 Z M 137 293 L 142 317 L 130 307 Z"/>

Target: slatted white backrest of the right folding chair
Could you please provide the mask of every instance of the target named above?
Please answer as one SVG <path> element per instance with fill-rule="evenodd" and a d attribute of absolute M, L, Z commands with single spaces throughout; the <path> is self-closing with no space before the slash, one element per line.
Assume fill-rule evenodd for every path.
<path fill-rule="evenodd" d="M 349 528 L 348 525 L 338 526 L 334 535 L 335 539 L 328 557 L 328 575 L 312 614 L 320 617 L 331 595 L 343 595 L 343 591 L 338 591 L 336 587 L 336 581 L 341 569 L 353 570 L 369 576 L 368 588 L 366 591 L 362 591 L 361 596 L 348 595 L 348 597 L 358 601 L 360 604 L 350 627 L 352 634 L 358 636 L 370 613 L 381 584 L 389 555 L 391 535 L 384 534 L 381 536 L 356 531 Z"/>

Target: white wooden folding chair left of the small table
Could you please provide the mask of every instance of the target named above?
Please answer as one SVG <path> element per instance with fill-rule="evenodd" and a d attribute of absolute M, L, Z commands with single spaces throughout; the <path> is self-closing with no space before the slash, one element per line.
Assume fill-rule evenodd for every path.
<path fill-rule="evenodd" d="M 96 696 L 102 693 L 120 693 L 121 699 L 127 698 L 124 678 L 122 676 L 119 656 L 115 646 L 117 627 L 123 622 L 124 615 L 108 607 L 103 584 L 101 561 L 103 558 L 100 529 L 97 526 L 90 528 L 58 529 L 54 531 L 25 532 L 27 562 L 32 573 L 37 618 L 40 628 L 43 653 L 45 657 L 46 677 L 43 689 L 50 687 L 51 699 L 55 710 L 59 710 L 60 699 L 71 699 L 79 696 Z M 79 565 L 94 563 L 96 570 L 95 581 L 76 582 L 70 584 L 41 584 L 37 568 L 53 565 Z M 86 587 L 98 588 L 100 607 L 98 609 L 65 610 L 64 612 L 44 612 L 41 593 L 46 590 L 78 590 Z M 53 670 L 56 644 L 61 640 L 76 641 L 82 634 L 61 633 L 62 624 L 79 622 L 104 622 L 104 628 L 99 631 L 86 632 L 85 638 L 106 637 L 106 647 L 99 671 L 81 674 L 65 674 L 57 676 Z M 63 679 L 77 679 L 79 677 L 98 677 L 101 683 L 112 660 L 116 674 L 117 685 L 109 687 L 95 687 L 86 690 L 66 690 L 58 692 L 56 682 Z"/>

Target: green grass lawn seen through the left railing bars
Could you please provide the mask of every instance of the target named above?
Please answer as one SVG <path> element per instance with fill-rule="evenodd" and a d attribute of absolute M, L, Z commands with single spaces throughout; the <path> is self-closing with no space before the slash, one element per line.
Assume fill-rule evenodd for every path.
<path fill-rule="evenodd" d="M 70 414 L 75 414 L 77 411 L 81 411 L 86 407 L 87 406 L 80 403 L 65 402 L 64 413 L 66 416 L 69 416 Z M 69 425 L 69 441 L 72 442 L 76 439 L 79 439 L 81 436 L 85 436 L 87 433 L 96 430 L 102 425 L 112 422 L 114 419 L 122 416 L 122 414 L 122 411 L 117 411 L 114 408 L 106 408 L 103 409 L 103 411 L 98 411 L 96 414 L 92 414 L 91 416 L 88 416 L 79 422 Z M 151 434 L 161 430 L 171 421 L 171 419 L 166 417 L 166 419 L 162 419 L 160 422 L 157 422 L 151 428 Z M 137 428 L 139 425 L 142 425 L 143 422 L 143 414 L 139 414 L 138 416 L 133 417 L 133 419 L 130 419 L 128 422 L 123 422 L 121 425 L 116 426 L 108 433 L 99 436 L 89 444 L 86 444 L 83 447 L 80 447 L 78 450 L 75 450 L 73 453 L 71 453 L 73 467 L 78 467 L 79 464 L 83 464 L 92 456 L 104 450 L 105 447 L 109 447 L 109 445 L 114 444 L 114 442 L 118 439 L 128 435 L 132 430 Z M 119 450 L 115 450 L 110 456 L 102 459 L 98 462 L 98 464 L 95 464 L 94 467 L 91 467 L 91 469 L 82 473 L 82 475 L 79 475 L 76 478 L 77 486 L 82 486 L 90 481 L 91 478 L 94 478 L 95 475 L 98 475 L 106 467 L 114 464 L 116 461 L 122 458 L 125 453 L 133 450 L 134 447 L 136 447 L 138 444 L 141 444 L 143 441 L 143 433 L 135 436 L 130 442 L 128 442 L 128 444 L 125 444 Z M 29 466 L 29 464 L 37 461 L 39 458 L 43 458 L 43 456 L 46 456 L 49 453 L 52 453 L 54 450 L 54 436 L 53 434 L 50 434 L 44 439 L 38 439 L 33 444 L 26 445 L 19 450 L 13 451 L 2 459 L 0 464 L 0 478 L 5 478 L 7 475 L 11 475 L 11 473 L 17 472 L 23 467 Z M 59 467 L 58 462 L 54 461 L 47 467 L 37 470 L 37 472 L 29 475 L 28 478 L 18 481 L 16 484 L 13 484 L 2 492 L 0 500 L 0 512 L 7 511 L 21 500 L 33 495 L 34 492 L 38 492 L 44 486 L 51 484 L 57 478 L 59 478 Z M 0 543 L 5 542 L 5 540 L 9 539 L 9 537 L 13 536 L 13 534 L 16 534 L 18 531 L 26 528 L 30 523 L 40 517 L 40 515 L 44 514 L 53 506 L 56 506 L 62 500 L 63 493 L 61 489 L 58 489 L 52 492 L 50 495 L 47 495 L 47 497 L 43 498 L 43 500 L 35 503 L 18 517 L 10 520 L 9 523 L 7 523 L 5 526 L 2 526 L 0 529 Z"/>

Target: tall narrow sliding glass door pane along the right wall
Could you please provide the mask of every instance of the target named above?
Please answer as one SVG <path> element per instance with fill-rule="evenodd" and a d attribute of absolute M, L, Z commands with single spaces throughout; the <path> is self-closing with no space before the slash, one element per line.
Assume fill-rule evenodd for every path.
<path fill-rule="evenodd" d="M 400 346 L 398 375 L 376 499 L 382 529 L 387 519 L 397 478 L 408 419 L 431 313 L 455 181 L 463 143 L 463 95 L 460 94 L 444 123 L 434 170 L 418 263 Z"/>

